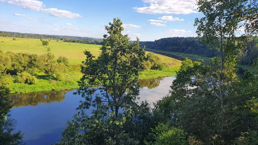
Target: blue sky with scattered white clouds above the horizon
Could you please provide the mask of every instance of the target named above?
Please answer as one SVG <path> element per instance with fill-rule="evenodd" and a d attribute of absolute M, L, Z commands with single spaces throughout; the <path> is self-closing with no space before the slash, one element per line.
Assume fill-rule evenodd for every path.
<path fill-rule="evenodd" d="M 0 30 L 103 38 L 113 18 L 131 40 L 196 36 L 195 0 L 0 0 Z"/>

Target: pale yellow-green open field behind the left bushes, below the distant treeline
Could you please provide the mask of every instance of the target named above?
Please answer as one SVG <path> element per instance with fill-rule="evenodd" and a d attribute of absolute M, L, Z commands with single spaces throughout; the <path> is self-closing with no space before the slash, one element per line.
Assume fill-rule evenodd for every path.
<path fill-rule="evenodd" d="M 0 37 L 0 50 L 3 50 L 3 52 L 12 51 L 15 53 L 22 52 L 39 55 L 47 53 L 47 49 L 45 48 L 46 46 L 42 45 L 40 39 L 15 39 L 16 40 L 13 40 L 12 37 Z M 63 41 L 57 42 L 57 40 L 51 40 L 48 46 L 51 49 L 50 52 L 53 53 L 56 58 L 58 58 L 59 56 L 64 56 L 69 59 L 70 63 L 81 63 L 86 58 L 83 54 L 84 50 L 88 50 L 93 55 L 98 56 L 100 54 L 99 47 L 101 45 L 69 43 Z"/>

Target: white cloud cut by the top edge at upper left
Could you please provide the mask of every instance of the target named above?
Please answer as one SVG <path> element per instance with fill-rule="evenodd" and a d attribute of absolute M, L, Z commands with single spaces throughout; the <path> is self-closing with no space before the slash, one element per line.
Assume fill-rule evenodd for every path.
<path fill-rule="evenodd" d="M 30 9 L 30 10 L 41 10 L 43 5 L 43 2 L 41 1 L 36 1 L 36 0 L 11 0 L 8 1 L 9 4 L 13 5 L 19 5 L 22 6 L 23 9 Z"/>

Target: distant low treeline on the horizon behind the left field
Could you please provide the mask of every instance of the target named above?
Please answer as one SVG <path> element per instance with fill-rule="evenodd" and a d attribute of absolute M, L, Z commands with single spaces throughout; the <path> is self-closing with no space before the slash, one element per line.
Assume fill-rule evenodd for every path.
<path fill-rule="evenodd" d="M 78 36 L 62 36 L 61 35 L 45 35 L 45 34 L 30 34 L 0 31 L 0 36 L 18 37 L 18 38 L 36 38 L 36 39 L 55 39 L 63 40 L 64 42 L 85 43 L 85 44 L 101 44 L 102 39 Z"/>

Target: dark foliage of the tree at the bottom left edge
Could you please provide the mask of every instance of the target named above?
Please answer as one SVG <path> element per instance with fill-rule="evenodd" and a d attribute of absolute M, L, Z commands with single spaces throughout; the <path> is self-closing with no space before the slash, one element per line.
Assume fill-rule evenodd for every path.
<path fill-rule="evenodd" d="M 16 121 L 9 118 L 12 102 L 7 96 L 9 89 L 4 84 L 5 80 L 2 74 L 0 74 L 0 80 L 0 145 L 20 145 L 23 144 L 23 136 L 21 131 L 13 132 Z"/>

